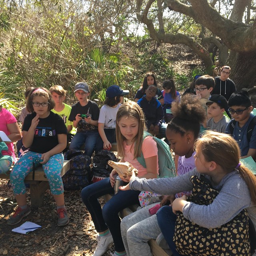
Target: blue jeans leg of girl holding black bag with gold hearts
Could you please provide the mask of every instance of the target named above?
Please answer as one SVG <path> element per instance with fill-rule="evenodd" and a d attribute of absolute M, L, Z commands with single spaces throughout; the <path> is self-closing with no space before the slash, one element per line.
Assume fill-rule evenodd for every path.
<path fill-rule="evenodd" d="M 163 206 L 156 213 L 157 222 L 161 229 L 162 234 L 170 249 L 172 250 L 173 256 L 181 256 L 176 250 L 176 245 L 173 242 L 175 222 L 177 215 L 172 212 L 172 206 Z"/>

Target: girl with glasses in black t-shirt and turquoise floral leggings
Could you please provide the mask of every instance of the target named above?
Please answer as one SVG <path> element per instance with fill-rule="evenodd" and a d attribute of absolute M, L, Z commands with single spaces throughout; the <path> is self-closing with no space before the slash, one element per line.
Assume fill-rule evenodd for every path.
<path fill-rule="evenodd" d="M 23 144 L 29 152 L 14 165 L 10 181 L 18 208 L 8 219 L 9 225 L 19 223 L 30 214 L 26 204 L 24 179 L 32 172 L 33 165 L 42 164 L 57 206 L 58 226 L 68 224 L 69 218 L 64 205 L 63 183 L 60 172 L 64 157 L 61 153 L 67 144 L 67 128 L 58 114 L 51 112 L 54 101 L 51 93 L 43 87 L 34 88 L 28 96 L 26 108 L 32 114 L 26 116 L 23 125 Z M 35 162 L 40 160 L 40 162 Z"/>

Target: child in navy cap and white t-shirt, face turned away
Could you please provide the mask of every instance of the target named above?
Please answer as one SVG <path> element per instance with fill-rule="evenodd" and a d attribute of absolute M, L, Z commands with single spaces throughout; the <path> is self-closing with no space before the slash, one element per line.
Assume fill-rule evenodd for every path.
<path fill-rule="evenodd" d="M 128 90 L 122 90 L 117 85 L 112 85 L 106 90 L 106 100 L 100 109 L 98 120 L 98 130 L 100 138 L 96 143 L 96 150 L 111 149 L 111 143 L 116 142 L 116 113 L 122 105 L 124 95 L 129 93 Z"/>

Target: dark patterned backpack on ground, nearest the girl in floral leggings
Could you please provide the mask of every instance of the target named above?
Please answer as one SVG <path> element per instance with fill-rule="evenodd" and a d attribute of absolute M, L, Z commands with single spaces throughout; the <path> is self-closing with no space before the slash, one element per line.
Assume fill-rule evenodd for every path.
<path fill-rule="evenodd" d="M 65 190 L 79 190 L 90 184 L 90 156 L 80 150 L 68 150 L 65 160 L 70 160 L 70 169 L 62 176 Z"/>

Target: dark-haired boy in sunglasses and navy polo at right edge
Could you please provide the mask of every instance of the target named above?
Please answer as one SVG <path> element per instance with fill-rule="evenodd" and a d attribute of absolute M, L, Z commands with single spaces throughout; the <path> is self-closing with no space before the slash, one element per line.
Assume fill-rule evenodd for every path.
<path fill-rule="evenodd" d="M 226 128 L 226 133 L 232 134 L 233 138 L 238 142 L 241 150 L 241 158 L 252 156 L 256 160 L 256 126 L 252 128 L 252 136 L 248 141 L 248 126 L 254 117 L 252 112 L 251 98 L 248 92 L 241 90 L 234 92 L 228 100 L 229 112 L 232 119 Z M 234 125 L 231 133 L 231 125 Z"/>

